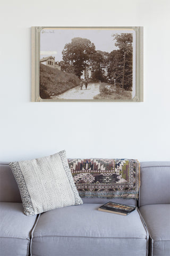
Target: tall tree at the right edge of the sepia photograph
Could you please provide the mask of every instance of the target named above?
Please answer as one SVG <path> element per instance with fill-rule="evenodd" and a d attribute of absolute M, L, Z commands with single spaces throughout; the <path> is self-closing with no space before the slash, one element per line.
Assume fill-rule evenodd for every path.
<path fill-rule="evenodd" d="M 119 75 L 122 69 L 122 89 L 124 88 L 131 89 L 132 88 L 133 36 L 130 33 L 121 33 L 121 35 L 118 35 L 118 34 L 113 35 L 113 38 L 114 40 L 116 40 L 115 46 L 117 46 L 120 50 L 119 52 L 117 52 L 117 54 L 119 54 L 119 57 L 118 55 L 116 55 L 115 59 L 118 62 L 117 63 L 118 66 L 116 68 L 118 69 L 117 71 Z"/>

